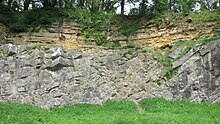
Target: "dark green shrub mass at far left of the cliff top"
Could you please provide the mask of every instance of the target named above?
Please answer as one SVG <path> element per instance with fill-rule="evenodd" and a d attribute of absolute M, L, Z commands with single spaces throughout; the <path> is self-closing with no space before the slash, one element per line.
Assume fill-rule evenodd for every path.
<path fill-rule="evenodd" d="M 0 23 L 6 25 L 11 32 L 26 32 L 38 26 L 47 26 L 66 18 L 63 10 L 57 8 L 33 9 L 30 11 L 14 11 L 10 7 L 0 5 Z"/>

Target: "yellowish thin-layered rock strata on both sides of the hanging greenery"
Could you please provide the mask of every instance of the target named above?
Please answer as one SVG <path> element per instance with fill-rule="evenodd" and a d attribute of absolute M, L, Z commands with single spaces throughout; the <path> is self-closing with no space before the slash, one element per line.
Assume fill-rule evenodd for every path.
<path fill-rule="evenodd" d="M 175 23 L 171 20 L 175 20 Z M 121 35 L 119 29 L 121 22 L 117 25 L 111 25 L 107 34 L 107 41 L 119 41 L 121 46 L 134 44 L 136 46 L 150 46 L 150 47 L 166 47 L 174 42 L 180 40 L 191 40 L 202 37 L 214 36 L 213 27 L 215 22 L 195 25 L 193 23 L 186 23 L 182 19 L 164 20 L 158 26 L 153 20 L 148 21 L 143 19 L 141 21 L 142 27 L 136 31 L 135 36 L 128 38 Z M 76 46 L 84 42 L 85 38 L 81 32 L 80 26 L 75 21 L 53 23 L 47 28 L 39 28 L 39 31 L 19 33 L 10 35 L 6 40 L 17 44 L 41 43 L 41 44 L 57 44 L 56 46 Z M 62 42 L 62 44 L 61 44 Z"/>

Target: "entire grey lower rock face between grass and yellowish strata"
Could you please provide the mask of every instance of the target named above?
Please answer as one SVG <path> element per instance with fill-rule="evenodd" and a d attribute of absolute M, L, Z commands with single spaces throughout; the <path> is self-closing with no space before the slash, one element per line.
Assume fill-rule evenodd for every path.
<path fill-rule="evenodd" d="M 172 57 L 172 56 L 171 56 Z M 31 45 L 0 46 L 0 101 L 43 108 L 144 98 L 220 101 L 220 41 L 198 45 L 164 67 L 141 50 L 67 51 Z"/>

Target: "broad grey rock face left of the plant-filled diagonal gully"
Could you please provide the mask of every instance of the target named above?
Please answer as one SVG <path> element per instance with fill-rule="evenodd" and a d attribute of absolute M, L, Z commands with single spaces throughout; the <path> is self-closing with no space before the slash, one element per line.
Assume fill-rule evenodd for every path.
<path fill-rule="evenodd" d="M 171 96 L 165 85 L 157 85 L 162 66 L 149 53 L 12 44 L 0 49 L 0 101 L 51 108 Z"/>

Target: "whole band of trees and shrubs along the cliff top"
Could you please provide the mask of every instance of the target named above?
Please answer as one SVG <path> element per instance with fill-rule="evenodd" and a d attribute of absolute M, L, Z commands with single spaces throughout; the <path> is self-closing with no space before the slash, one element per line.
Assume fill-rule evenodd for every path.
<path fill-rule="evenodd" d="M 106 42 L 109 27 L 113 20 L 118 24 L 119 32 L 128 37 L 134 35 L 141 27 L 140 20 L 154 19 L 158 25 L 167 15 L 187 16 L 195 23 L 217 21 L 216 32 L 219 31 L 220 14 L 218 2 L 206 0 L 16 0 L 0 1 L 0 23 L 6 25 L 11 32 L 36 31 L 41 26 L 53 22 L 75 19 L 81 26 L 86 41 L 97 45 L 110 45 Z M 126 4 L 136 5 L 124 15 Z M 196 7 L 199 6 L 199 7 Z M 121 8 L 120 14 L 116 14 Z M 119 12 L 118 12 L 119 13 Z M 128 21 L 129 18 L 133 21 Z M 118 18 L 120 17 L 120 18 Z"/>

